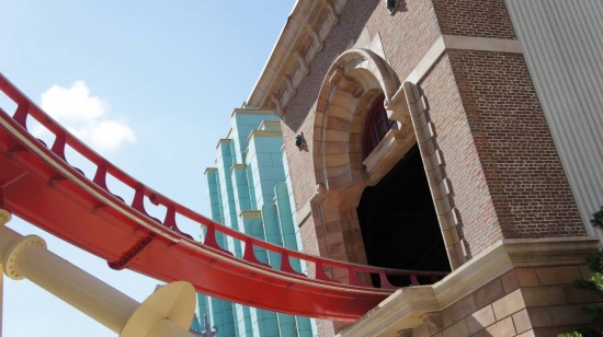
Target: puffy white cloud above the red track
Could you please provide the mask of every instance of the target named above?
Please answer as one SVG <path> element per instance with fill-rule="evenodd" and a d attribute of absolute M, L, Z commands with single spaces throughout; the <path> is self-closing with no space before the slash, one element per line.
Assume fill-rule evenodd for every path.
<path fill-rule="evenodd" d="M 107 104 L 91 95 L 83 81 L 76 81 L 71 88 L 53 85 L 42 94 L 39 106 L 96 150 L 112 151 L 136 140 L 133 129 L 125 121 L 106 116 Z"/>

